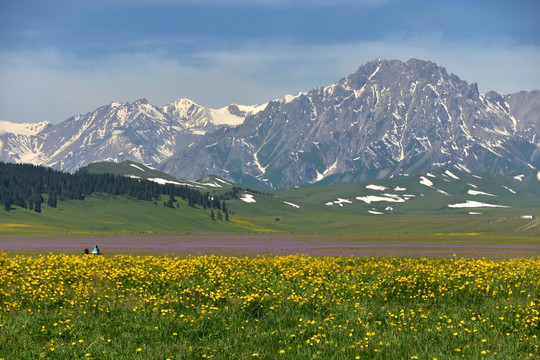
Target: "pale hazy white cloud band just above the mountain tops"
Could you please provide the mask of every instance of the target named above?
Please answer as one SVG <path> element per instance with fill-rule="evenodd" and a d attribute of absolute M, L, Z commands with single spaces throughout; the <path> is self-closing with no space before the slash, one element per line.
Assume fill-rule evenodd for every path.
<path fill-rule="evenodd" d="M 57 123 L 113 101 L 143 97 L 155 105 L 180 97 L 211 107 L 257 104 L 329 85 L 375 58 L 413 57 L 477 82 L 482 92 L 533 90 L 540 84 L 538 47 L 450 43 L 438 36 L 313 46 L 252 43 L 189 56 L 134 53 L 85 59 L 35 50 L 0 55 L 0 117 Z"/>

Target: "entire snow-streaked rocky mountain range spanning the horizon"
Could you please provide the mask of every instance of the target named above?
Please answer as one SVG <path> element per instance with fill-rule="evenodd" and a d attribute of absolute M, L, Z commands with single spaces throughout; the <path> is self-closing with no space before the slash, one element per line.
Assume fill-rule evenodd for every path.
<path fill-rule="evenodd" d="M 508 173 L 540 168 L 539 109 L 540 91 L 480 94 L 430 61 L 375 60 L 258 106 L 139 100 L 57 125 L 0 123 L 0 160 L 66 171 L 134 160 L 186 179 L 216 174 L 270 188 L 441 166 Z"/>

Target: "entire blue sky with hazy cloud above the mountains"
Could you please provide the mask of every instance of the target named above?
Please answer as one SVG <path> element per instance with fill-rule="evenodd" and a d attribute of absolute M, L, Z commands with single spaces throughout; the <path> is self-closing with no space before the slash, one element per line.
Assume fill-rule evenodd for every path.
<path fill-rule="evenodd" d="M 258 104 L 376 58 L 432 60 L 480 91 L 540 88 L 540 1 L 0 0 L 0 120 L 113 101 Z"/>

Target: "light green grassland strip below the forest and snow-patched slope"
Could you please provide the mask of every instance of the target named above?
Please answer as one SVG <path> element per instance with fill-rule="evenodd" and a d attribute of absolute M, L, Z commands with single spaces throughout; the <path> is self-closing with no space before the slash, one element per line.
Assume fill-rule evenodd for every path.
<path fill-rule="evenodd" d="M 364 207 L 328 207 L 301 203 L 301 208 L 284 204 L 287 198 L 255 195 L 257 203 L 227 201 L 230 221 L 220 221 L 210 209 L 191 208 L 177 198 L 178 207 L 137 201 L 126 196 L 94 194 L 86 200 L 59 202 L 57 208 L 43 206 L 41 213 L 16 207 L 0 211 L 0 237 L 59 237 L 120 235 L 185 235 L 186 233 L 290 233 L 332 236 L 431 236 L 441 234 L 504 235 L 509 243 L 520 242 L 524 234 L 540 236 L 537 208 L 489 209 L 485 215 L 471 216 L 467 210 L 449 212 L 414 210 L 385 216 L 366 213 Z M 293 203 L 296 200 L 289 200 Z M 298 201 L 296 201 L 298 202 Z M 300 203 L 300 202 L 298 202 Z M 522 220 L 523 213 L 535 215 Z M 517 240 L 514 240 L 517 239 Z"/>

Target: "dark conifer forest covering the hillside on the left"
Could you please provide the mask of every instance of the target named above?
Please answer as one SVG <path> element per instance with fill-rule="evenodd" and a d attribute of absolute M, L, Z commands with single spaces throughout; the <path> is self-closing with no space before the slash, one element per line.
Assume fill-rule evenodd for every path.
<path fill-rule="evenodd" d="M 168 207 L 173 207 L 175 197 L 180 197 L 191 207 L 198 205 L 225 212 L 224 200 L 238 198 L 239 191 L 239 188 L 233 188 L 219 196 L 211 196 L 209 192 L 202 193 L 187 186 L 161 185 L 120 175 L 69 174 L 43 166 L 0 162 L 0 205 L 6 211 L 10 211 L 12 206 L 19 206 L 39 213 L 45 203 L 44 195 L 46 204 L 56 207 L 58 201 L 84 200 L 93 193 L 105 193 L 144 201 L 157 201 L 160 195 L 169 195 L 169 201 L 164 204 Z"/>

